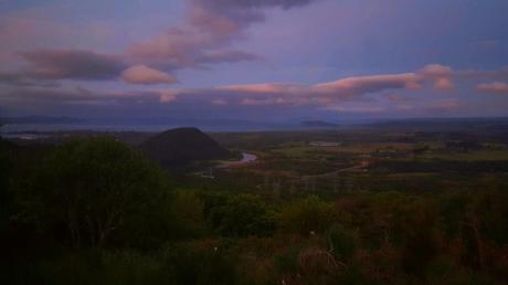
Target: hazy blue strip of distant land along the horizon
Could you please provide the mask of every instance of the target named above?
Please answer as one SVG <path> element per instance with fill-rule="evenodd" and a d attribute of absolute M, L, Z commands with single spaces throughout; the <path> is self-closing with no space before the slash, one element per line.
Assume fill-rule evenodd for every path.
<path fill-rule="evenodd" d="M 50 130 L 138 130 L 159 131 L 181 126 L 195 126 L 207 131 L 245 130 L 298 130 L 298 129 L 338 129 L 351 127 L 367 128 L 406 128 L 411 130 L 470 129 L 493 126 L 508 126 L 507 117 L 465 117 L 465 118 L 401 118 L 363 119 L 332 123 L 321 119 L 292 119 L 287 122 L 263 122 L 226 118 L 77 118 L 68 116 L 19 116 L 0 117 L 4 133 L 50 131 Z"/>

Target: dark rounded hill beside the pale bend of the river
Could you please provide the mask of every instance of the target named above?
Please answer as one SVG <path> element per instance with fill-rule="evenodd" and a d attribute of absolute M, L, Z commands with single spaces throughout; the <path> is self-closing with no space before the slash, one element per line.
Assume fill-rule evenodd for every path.
<path fill-rule="evenodd" d="M 195 160 L 227 159 L 232 154 L 198 128 L 162 131 L 140 145 L 141 151 L 162 166 L 186 165 Z"/>

